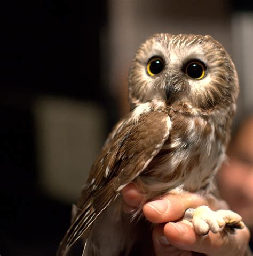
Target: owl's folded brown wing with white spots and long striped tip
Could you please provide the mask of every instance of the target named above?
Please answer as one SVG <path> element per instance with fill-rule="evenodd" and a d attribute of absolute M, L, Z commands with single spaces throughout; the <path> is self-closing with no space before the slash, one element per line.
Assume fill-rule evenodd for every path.
<path fill-rule="evenodd" d="M 57 255 L 72 246 L 123 189 L 135 179 L 160 151 L 171 130 L 170 118 L 160 111 L 122 119 L 110 133 L 94 162 L 77 208 L 76 219 L 62 240 Z"/>

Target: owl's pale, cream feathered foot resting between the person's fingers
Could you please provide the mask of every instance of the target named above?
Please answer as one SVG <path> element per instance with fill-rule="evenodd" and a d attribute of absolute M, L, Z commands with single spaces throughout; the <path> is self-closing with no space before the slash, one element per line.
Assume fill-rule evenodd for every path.
<path fill-rule="evenodd" d="M 227 225 L 231 228 L 244 228 L 244 223 L 239 214 L 232 210 L 211 210 L 208 206 L 189 208 L 185 212 L 184 220 L 191 221 L 194 230 L 199 235 L 206 235 L 211 230 L 213 233 L 222 231 Z"/>

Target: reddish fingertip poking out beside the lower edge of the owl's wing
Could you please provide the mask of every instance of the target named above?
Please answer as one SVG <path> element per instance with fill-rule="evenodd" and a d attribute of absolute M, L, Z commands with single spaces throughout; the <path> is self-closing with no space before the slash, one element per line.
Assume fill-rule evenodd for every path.
<path fill-rule="evenodd" d="M 121 194 L 125 203 L 133 207 L 140 206 L 144 198 L 144 195 L 138 191 L 136 185 L 133 183 L 129 183 L 125 186 L 124 189 L 121 190 Z"/>

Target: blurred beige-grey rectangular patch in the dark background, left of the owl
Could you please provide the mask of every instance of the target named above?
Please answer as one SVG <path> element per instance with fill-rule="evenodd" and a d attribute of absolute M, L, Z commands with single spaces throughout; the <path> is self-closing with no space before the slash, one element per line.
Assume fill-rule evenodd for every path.
<path fill-rule="evenodd" d="M 44 193 L 76 202 L 105 139 L 105 111 L 92 101 L 40 97 L 34 103 L 39 185 Z"/>

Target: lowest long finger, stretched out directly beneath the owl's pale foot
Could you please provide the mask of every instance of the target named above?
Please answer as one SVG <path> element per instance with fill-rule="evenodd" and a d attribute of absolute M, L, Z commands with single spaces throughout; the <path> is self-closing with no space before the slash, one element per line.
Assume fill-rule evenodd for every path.
<path fill-rule="evenodd" d="M 216 234 L 209 232 L 206 236 L 200 236 L 195 233 L 192 227 L 183 222 L 167 223 L 163 231 L 171 245 L 186 251 L 204 253 L 208 256 L 243 255 L 250 237 L 247 228 Z"/>

